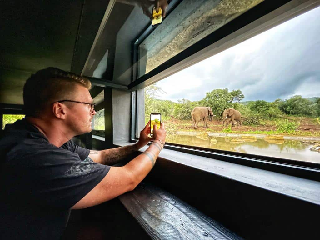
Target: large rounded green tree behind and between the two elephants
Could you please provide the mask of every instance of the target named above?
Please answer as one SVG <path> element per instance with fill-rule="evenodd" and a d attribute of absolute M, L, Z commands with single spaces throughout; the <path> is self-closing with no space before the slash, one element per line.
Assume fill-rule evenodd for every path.
<path fill-rule="evenodd" d="M 214 89 L 205 93 L 205 97 L 201 100 L 201 105 L 211 107 L 214 115 L 222 117 L 224 109 L 232 108 L 234 103 L 238 103 L 243 99 L 244 95 L 239 89 L 231 92 L 229 92 L 228 88 Z"/>

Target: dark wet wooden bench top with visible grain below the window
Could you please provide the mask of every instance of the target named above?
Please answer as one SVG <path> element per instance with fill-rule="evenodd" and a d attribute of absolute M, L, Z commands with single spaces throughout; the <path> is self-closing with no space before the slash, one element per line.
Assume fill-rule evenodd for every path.
<path fill-rule="evenodd" d="M 119 199 L 152 239 L 242 239 L 179 198 L 149 184 L 141 183 Z"/>

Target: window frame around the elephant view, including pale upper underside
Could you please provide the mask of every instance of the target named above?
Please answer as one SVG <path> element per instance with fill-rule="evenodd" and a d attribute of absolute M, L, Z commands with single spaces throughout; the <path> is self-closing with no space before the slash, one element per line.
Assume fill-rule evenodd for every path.
<path fill-rule="evenodd" d="M 208 58 L 210 54 L 210 56 L 212 56 L 214 54 L 217 54 L 218 52 L 222 52 L 236 44 L 245 41 L 248 38 L 256 36 L 287 20 L 290 20 L 300 14 L 308 12 L 318 7 L 319 5 L 320 1 L 316 0 L 306 0 L 303 2 L 298 0 L 283 0 L 277 2 L 265 0 L 264 2 L 256 5 L 252 9 L 238 16 L 236 19 L 230 21 L 229 23 L 217 29 L 210 35 L 206 36 L 205 38 L 197 42 L 196 44 L 180 52 L 172 59 L 167 60 L 160 66 L 156 67 L 155 69 L 151 70 L 150 72 L 141 76 L 138 79 L 138 66 L 136 66 L 135 70 L 133 70 L 134 74 L 132 83 L 128 86 L 129 89 L 133 90 L 131 115 L 131 142 L 138 141 L 136 135 L 136 130 L 139 129 L 137 125 L 139 118 L 137 111 L 139 105 L 139 100 L 137 99 L 137 89 L 144 89 L 145 87 L 154 84 L 184 68 L 187 68 L 201 60 Z M 247 26 L 253 24 L 253 22 L 256 22 L 255 26 L 253 26 L 252 29 L 250 27 L 248 28 L 249 30 L 246 29 Z M 138 56 L 138 48 L 136 44 L 138 42 L 140 44 L 140 42 L 144 38 L 146 38 L 148 34 L 151 33 L 151 31 L 148 33 L 146 33 L 146 31 L 138 38 L 139 41 L 136 41 L 134 44 L 135 53 L 133 62 L 137 61 Z M 236 34 L 236 31 L 240 36 L 233 35 Z M 213 54 L 208 53 L 208 47 L 210 51 L 214 52 Z M 320 163 L 318 164 L 312 162 L 285 159 L 280 157 L 238 153 L 220 149 L 185 146 L 175 143 L 166 143 L 164 148 L 320 181 Z"/>

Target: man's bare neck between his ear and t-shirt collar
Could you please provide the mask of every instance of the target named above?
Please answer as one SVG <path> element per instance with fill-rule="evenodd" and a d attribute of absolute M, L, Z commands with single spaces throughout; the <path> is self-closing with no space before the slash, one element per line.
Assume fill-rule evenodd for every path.
<path fill-rule="evenodd" d="M 26 120 L 33 124 L 47 140 L 56 147 L 61 147 L 69 141 L 73 134 L 64 130 L 63 126 L 57 121 L 45 120 L 37 117 L 26 117 Z"/>

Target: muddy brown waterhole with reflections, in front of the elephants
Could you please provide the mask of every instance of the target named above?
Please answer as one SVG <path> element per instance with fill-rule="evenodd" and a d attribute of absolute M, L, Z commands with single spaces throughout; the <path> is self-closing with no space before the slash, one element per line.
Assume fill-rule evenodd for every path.
<path fill-rule="evenodd" d="M 166 141 L 204 147 L 234 151 L 240 153 L 257 154 L 272 157 L 281 157 L 292 160 L 320 163 L 320 153 L 310 150 L 311 144 L 302 143 L 299 140 L 247 140 L 244 142 L 231 141 L 232 137 L 198 137 L 178 135 L 174 139 Z"/>

